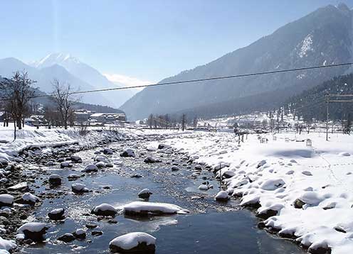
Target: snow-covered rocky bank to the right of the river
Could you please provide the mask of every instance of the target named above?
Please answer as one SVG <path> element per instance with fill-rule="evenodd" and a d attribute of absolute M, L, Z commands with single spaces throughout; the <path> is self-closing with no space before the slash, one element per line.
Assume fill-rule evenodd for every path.
<path fill-rule="evenodd" d="M 353 136 L 323 133 L 276 134 L 268 143 L 249 135 L 238 145 L 231 133 L 198 133 L 166 140 L 214 170 L 231 170 L 224 180 L 241 204 L 260 205 L 258 214 L 277 213 L 265 226 L 306 247 L 353 250 Z M 286 138 L 289 141 L 286 142 Z M 307 147 L 310 138 L 312 147 Z M 157 147 L 157 143 L 151 143 Z M 223 174 L 223 173 L 222 173 Z M 300 200 L 300 201 L 298 201 Z M 294 205 L 296 203 L 296 205 Z M 295 208 L 302 206 L 301 208 Z M 268 217 L 267 216 L 267 217 Z"/>

